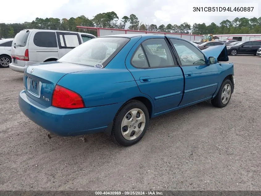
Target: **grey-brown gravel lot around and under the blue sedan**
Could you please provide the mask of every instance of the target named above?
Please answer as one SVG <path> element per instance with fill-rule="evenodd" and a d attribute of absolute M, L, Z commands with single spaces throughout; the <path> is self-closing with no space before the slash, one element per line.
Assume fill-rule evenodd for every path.
<path fill-rule="evenodd" d="M 152 119 L 134 146 L 47 137 L 19 110 L 22 74 L 0 69 L 0 190 L 261 190 L 261 57 L 229 56 L 235 90 Z"/>

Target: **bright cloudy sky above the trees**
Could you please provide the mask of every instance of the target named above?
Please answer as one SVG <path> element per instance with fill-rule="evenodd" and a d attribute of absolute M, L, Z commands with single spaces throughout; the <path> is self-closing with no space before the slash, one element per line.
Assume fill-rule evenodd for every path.
<path fill-rule="evenodd" d="M 39 2 L 39 3 L 37 3 Z M 210 4 L 207 4 L 209 3 Z M 140 22 L 146 24 L 181 24 L 183 22 L 219 24 L 222 20 L 233 20 L 236 17 L 244 17 L 242 14 L 235 16 L 202 16 L 192 11 L 193 6 L 216 6 L 215 1 L 209 0 L 12 0 L 11 4 L 1 4 L 0 22 L 22 23 L 31 22 L 39 18 L 70 18 L 85 15 L 92 19 L 94 15 L 102 12 L 115 11 L 119 18 L 124 15 L 135 14 Z M 219 0 L 219 3 L 244 3 L 245 0 Z M 261 16 L 261 0 L 248 0 L 248 3 L 259 3 L 258 15 Z M 12 6 L 15 5 L 15 6 Z M 254 16 L 245 16 L 252 18 Z"/>

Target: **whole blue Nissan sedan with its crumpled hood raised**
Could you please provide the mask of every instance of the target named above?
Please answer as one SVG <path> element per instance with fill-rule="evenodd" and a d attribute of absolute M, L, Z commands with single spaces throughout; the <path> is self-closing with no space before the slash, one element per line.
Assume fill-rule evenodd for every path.
<path fill-rule="evenodd" d="M 130 146 L 149 119 L 211 100 L 225 107 L 234 90 L 226 46 L 201 51 L 163 35 L 97 37 L 56 62 L 29 66 L 21 111 L 54 136 L 103 132 Z"/>

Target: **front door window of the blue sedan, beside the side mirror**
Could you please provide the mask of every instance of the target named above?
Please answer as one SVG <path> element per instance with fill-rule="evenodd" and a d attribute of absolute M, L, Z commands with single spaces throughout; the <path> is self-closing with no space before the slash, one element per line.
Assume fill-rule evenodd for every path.
<path fill-rule="evenodd" d="M 192 44 L 187 41 L 170 39 L 174 45 L 182 65 L 206 64 L 205 56 Z"/>

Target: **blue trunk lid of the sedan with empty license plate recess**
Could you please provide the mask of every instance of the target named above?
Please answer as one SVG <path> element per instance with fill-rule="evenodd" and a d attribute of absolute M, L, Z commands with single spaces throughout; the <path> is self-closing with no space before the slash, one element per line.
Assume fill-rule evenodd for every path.
<path fill-rule="evenodd" d="M 45 106 L 51 106 L 53 89 L 63 76 L 68 73 L 98 69 L 57 61 L 37 63 L 36 65 L 37 66 L 28 66 L 24 72 L 23 84 L 26 94 Z"/>

